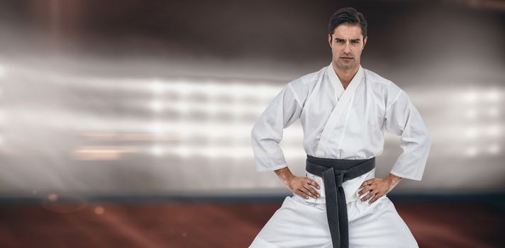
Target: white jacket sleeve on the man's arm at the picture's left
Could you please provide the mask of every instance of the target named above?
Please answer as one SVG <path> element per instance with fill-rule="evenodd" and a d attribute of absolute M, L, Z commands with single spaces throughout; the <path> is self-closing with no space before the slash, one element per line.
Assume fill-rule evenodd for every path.
<path fill-rule="evenodd" d="M 302 105 L 292 82 L 275 96 L 256 120 L 251 130 L 251 140 L 257 171 L 273 171 L 287 167 L 279 142 L 284 128 L 298 120 Z"/>

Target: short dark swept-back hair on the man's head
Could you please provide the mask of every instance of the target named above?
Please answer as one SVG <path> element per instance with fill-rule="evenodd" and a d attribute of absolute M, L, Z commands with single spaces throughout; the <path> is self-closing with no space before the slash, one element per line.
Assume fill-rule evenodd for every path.
<path fill-rule="evenodd" d="M 333 13 L 328 24 L 328 34 L 333 35 L 333 30 L 340 24 L 360 24 L 363 38 L 367 37 L 367 20 L 362 13 L 357 12 L 354 8 L 342 8 Z"/>

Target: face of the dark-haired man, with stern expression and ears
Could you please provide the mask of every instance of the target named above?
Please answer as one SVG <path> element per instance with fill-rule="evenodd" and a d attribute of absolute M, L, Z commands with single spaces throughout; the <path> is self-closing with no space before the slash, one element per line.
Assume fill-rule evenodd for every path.
<path fill-rule="evenodd" d="M 367 38 L 363 40 L 361 27 L 357 24 L 340 24 L 333 35 L 328 35 L 333 64 L 338 69 L 355 69 L 360 65 L 360 57 Z"/>

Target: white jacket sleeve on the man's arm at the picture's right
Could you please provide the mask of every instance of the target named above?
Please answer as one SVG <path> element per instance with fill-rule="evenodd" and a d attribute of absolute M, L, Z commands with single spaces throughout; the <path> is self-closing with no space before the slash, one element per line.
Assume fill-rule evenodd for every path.
<path fill-rule="evenodd" d="M 385 128 L 401 136 L 400 147 L 403 150 L 391 174 L 420 181 L 430 152 L 431 136 L 421 114 L 401 89 L 386 108 Z"/>

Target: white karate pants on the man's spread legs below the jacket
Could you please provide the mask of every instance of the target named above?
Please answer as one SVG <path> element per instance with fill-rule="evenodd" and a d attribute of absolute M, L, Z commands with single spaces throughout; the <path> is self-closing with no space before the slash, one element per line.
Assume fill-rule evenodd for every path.
<path fill-rule="evenodd" d="M 347 208 L 350 247 L 418 247 L 387 196 L 372 204 L 359 199 L 351 201 Z M 250 248 L 295 247 L 332 247 L 326 205 L 307 203 L 296 194 L 284 199 L 250 244 Z"/>

